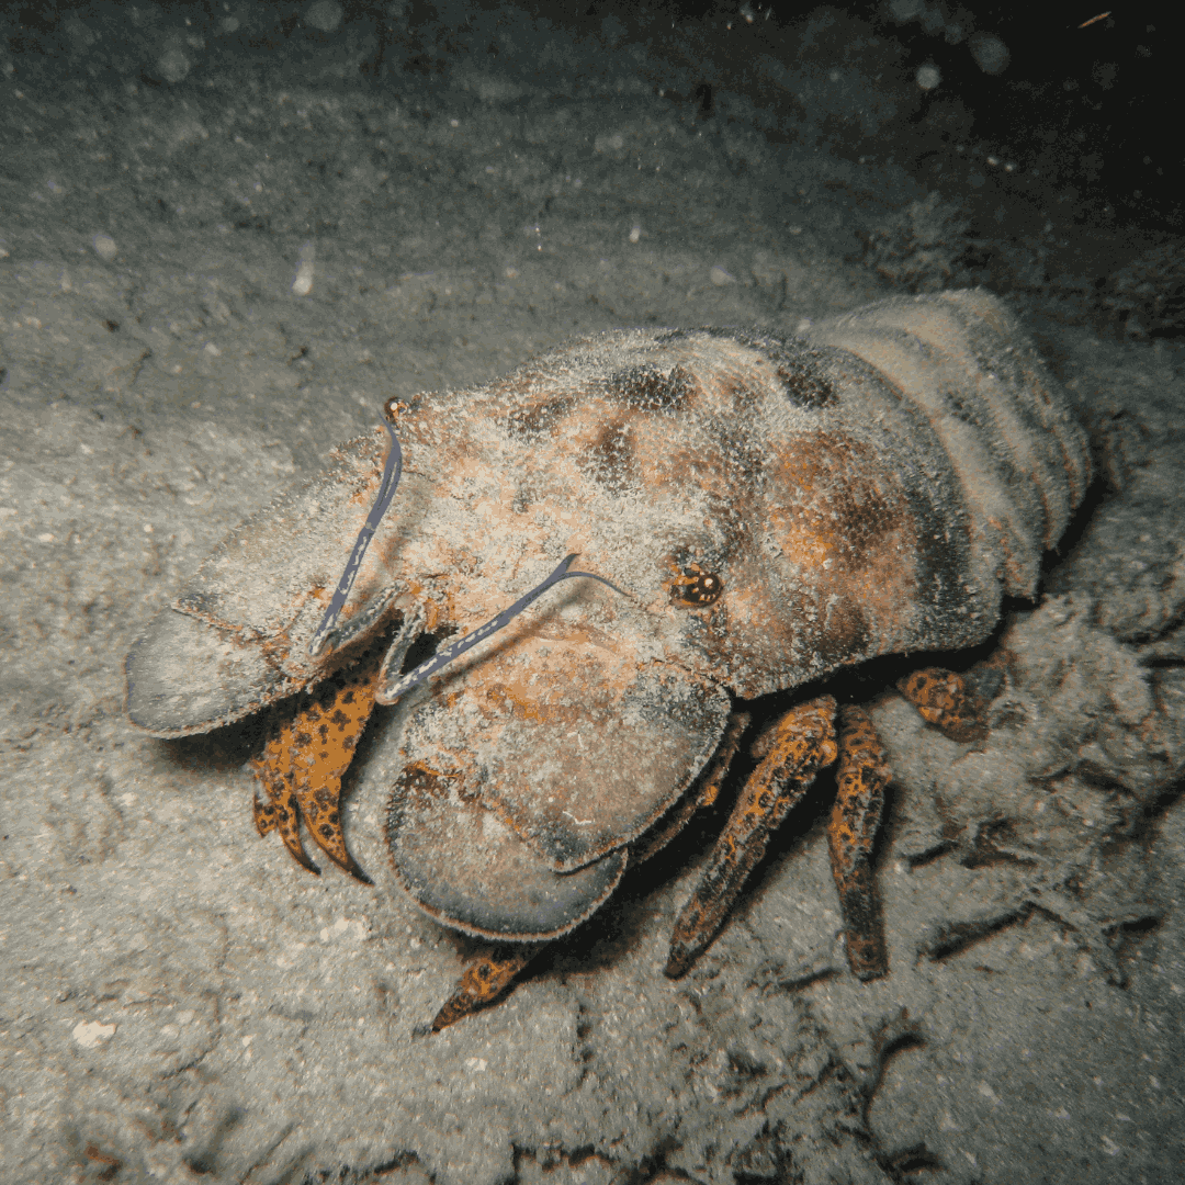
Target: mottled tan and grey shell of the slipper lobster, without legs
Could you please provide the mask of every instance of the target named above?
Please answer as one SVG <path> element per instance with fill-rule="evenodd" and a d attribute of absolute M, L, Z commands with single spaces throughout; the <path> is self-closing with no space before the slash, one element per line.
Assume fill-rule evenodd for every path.
<path fill-rule="evenodd" d="M 392 410 L 393 409 L 393 410 Z M 570 581 L 410 692 L 390 846 L 440 921 L 558 935 L 620 880 L 736 699 L 982 641 L 1036 588 L 1089 476 L 1005 306 L 896 299 L 799 337 L 624 329 L 389 406 L 402 485 L 310 656 L 386 436 L 242 524 L 128 660 L 132 719 L 206 731 L 348 667 L 390 698 L 421 632 L 468 632 L 561 557 Z"/>

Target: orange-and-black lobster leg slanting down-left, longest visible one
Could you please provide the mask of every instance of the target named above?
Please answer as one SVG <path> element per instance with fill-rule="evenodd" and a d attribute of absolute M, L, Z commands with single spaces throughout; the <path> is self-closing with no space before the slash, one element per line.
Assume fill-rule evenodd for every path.
<path fill-rule="evenodd" d="M 711 942 L 770 834 L 799 802 L 818 770 L 835 760 L 835 700 L 821 696 L 790 709 L 775 725 L 768 750 L 750 775 L 699 884 L 671 935 L 666 974 L 678 979 Z"/>

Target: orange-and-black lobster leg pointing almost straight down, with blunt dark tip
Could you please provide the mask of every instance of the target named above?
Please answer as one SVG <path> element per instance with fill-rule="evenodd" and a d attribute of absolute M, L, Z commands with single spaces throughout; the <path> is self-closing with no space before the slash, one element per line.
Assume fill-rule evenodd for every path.
<path fill-rule="evenodd" d="M 846 706 L 839 731 L 838 792 L 827 826 L 831 871 L 847 936 L 847 961 L 857 979 L 877 979 L 889 971 L 872 844 L 884 811 L 889 766 L 869 713 Z"/>

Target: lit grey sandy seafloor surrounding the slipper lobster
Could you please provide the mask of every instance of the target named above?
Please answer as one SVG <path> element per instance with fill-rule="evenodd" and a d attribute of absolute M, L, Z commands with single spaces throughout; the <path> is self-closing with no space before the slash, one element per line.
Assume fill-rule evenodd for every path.
<path fill-rule="evenodd" d="M 384 398 L 616 326 L 793 332 L 892 290 L 856 229 L 921 193 L 658 96 L 641 51 L 383 88 L 315 51 L 0 79 L 0 1180 L 1180 1180 L 1179 346 L 1018 306 L 1110 481 L 1008 607 L 979 751 L 870 690 L 882 981 L 837 944 L 824 799 L 685 980 L 698 833 L 428 1036 L 468 947 L 385 859 L 397 713 L 346 813 L 373 888 L 255 834 L 249 729 L 129 725 L 137 632 Z"/>

